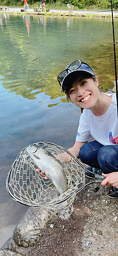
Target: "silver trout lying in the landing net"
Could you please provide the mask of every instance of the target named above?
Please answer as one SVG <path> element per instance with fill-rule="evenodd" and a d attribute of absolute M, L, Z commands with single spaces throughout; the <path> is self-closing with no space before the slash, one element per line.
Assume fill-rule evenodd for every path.
<path fill-rule="evenodd" d="M 37 167 L 44 170 L 45 175 L 56 186 L 58 196 L 62 195 L 67 190 L 67 179 L 60 161 L 39 146 L 29 145 L 27 152 Z"/>

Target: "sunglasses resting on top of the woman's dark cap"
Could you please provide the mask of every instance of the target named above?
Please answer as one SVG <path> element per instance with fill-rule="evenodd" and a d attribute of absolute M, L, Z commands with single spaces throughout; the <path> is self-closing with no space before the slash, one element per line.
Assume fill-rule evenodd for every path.
<path fill-rule="evenodd" d="M 65 78 L 65 76 L 74 71 L 74 70 L 78 70 L 82 64 L 85 64 L 86 66 L 88 66 L 90 68 L 90 66 L 85 63 L 84 61 L 80 60 L 80 59 L 77 59 L 75 60 L 74 62 L 72 62 L 69 66 L 67 66 L 67 68 L 65 70 L 63 70 L 57 77 L 57 80 L 61 86 L 61 83 L 63 81 L 63 79 Z M 90 68 L 90 70 L 92 71 L 92 69 Z M 93 71 L 92 71 L 93 72 Z"/>

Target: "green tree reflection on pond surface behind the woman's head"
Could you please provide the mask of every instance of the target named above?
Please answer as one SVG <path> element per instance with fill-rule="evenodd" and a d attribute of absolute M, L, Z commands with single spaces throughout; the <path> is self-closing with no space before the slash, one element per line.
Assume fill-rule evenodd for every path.
<path fill-rule="evenodd" d="M 106 19 L 1 15 L 0 23 L 1 75 L 10 92 L 35 99 L 31 92 L 40 90 L 61 100 L 56 76 L 68 61 L 77 58 L 91 63 L 95 73 L 98 67 L 102 89 L 112 86 L 112 27 Z M 117 24 L 115 20 L 115 27 Z"/>

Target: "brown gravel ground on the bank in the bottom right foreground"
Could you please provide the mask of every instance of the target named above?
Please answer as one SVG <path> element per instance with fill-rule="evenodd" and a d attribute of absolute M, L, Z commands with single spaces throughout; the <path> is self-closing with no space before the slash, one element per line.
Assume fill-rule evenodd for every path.
<path fill-rule="evenodd" d="M 11 239 L 6 248 L 27 256 L 117 256 L 118 201 L 106 197 L 102 188 L 95 194 L 94 187 L 76 196 L 68 220 L 56 218 L 45 226 L 37 245 L 18 247 Z"/>

